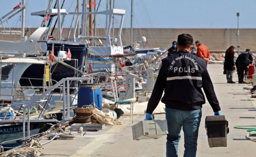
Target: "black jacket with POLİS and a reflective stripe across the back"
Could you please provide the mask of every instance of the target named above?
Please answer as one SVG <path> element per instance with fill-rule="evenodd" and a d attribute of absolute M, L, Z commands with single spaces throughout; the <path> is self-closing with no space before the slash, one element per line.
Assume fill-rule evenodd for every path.
<path fill-rule="evenodd" d="M 146 113 L 153 113 L 163 91 L 165 94 L 161 101 L 166 108 L 185 111 L 201 109 L 205 104 L 202 87 L 213 111 L 220 111 L 205 60 L 188 51 L 179 51 L 164 58 L 162 63 Z"/>

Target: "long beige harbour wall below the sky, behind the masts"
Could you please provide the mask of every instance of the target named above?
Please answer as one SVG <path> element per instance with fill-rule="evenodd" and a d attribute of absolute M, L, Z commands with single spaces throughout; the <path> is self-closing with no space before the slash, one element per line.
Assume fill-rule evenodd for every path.
<path fill-rule="evenodd" d="M 6 29 L 6 28 L 5 28 Z M 3 30 L 3 28 L 1 28 Z M 6 29 L 8 30 L 8 29 Z M 20 28 L 11 28 L 11 30 L 20 30 Z M 36 28 L 29 28 L 27 36 L 29 37 Z M 64 28 L 62 31 L 62 38 L 68 36 L 69 28 Z M 118 33 L 115 29 L 115 35 Z M 73 30 L 71 31 L 72 34 Z M 141 37 L 146 37 L 148 44 L 146 47 L 170 47 L 172 41 L 177 40 L 177 36 L 182 33 L 189 33 L 193 36 L 194 41 L 199 40 L 201 43 L 208 46 L 212 53 L 222 53 L 229 46 L 238 45 L 238 38 L 236 36 L 237 29 L 179 29 L 179 28 L 134 28 L 133 29 L 133 42 L 141 40 Z M 55 38 L 58 38 L 57 29 L 53 31 Z M 97 36 L 105 37 L 105 29 L 97 29 Z M 70 38 L 72 38 L 70 36 Z M 19 40 L 20 35 L 1 35 L 0 40 Z M 122 43 L 123 46 L 130 45 L 130 28 L 123 28 L 122 30 Z M 256 29 L 240 29 L 240 51 L 245 49 L 256 51 Z M 237 50 L 237 49 L 236 49 Z"/>

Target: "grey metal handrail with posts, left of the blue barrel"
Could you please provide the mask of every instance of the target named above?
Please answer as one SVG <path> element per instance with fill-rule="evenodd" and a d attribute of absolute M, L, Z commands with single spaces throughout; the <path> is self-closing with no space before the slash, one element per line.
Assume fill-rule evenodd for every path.
<path fill-rule="evenodd" d="M 57 82 L 55 85 L 53 85 L 51 88 L 49 88 L 47 91 L 42 93 L 37 99 L 34 99 L 31 103 L 29 103 L 27 106 L 23 108 L 24 111 L 29 111 L 29 108 L 31 106 L 34 106 L 35 103 L 38 100 L 41 100 L 44 98 L 44 96 L 48 95 L 50 92 L 52 92 L 54 89 L 58 88 L 60 85 L 63 86 L 63 89 L 66 89 L 67 86 L 67 92 L 63 92 L 63 119 L 58 123 L 62 122 L 67 122 L 72 119 L 72 117 L 69 116 L 69 83 L 70 81 L 87 81 L 88 84 L 93 83 L 93 78 L 92 77 L 68 77 L 66 79 L 61 79 L 59 82 Z M 67 97 L 66 97 L 67 95 Z M 67 100 L 66 100 L 67 99 Z M 65 107 L 67 106 L 67 115 L 66 115 L 66 110 Z M 27 112 L 27 128 L 30 128 L 29 126 L 29 112 Z M 26 129 L 26 114 L 23 114 L 23 130 L 22 134 L 23 137 L 25 138 L 25 129 Z M 30 131 L 27 129 L 27 137 L 29 137 Z"/>

